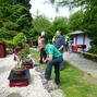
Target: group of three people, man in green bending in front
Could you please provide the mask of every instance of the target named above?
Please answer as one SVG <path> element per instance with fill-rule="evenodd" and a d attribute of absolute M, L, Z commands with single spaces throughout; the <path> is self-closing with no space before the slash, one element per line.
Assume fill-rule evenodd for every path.
<path fill-rule="evenodd" d="M 50 80 L 52 66 L 54 66 L 56 78 L 54 82 L 57 85 L 60 84 L 60 70 L 63 70 L 63 48 L 64 48 L 64 38 L 61 34 L 61 31 L 56 33 L 57 40 L 52 44 L 48 43 L 48 39 L 45 35 L 45 32 L 41 33 L 41 36 L 38 38 L 38 46 L 40 48 L 40 63 L 46 62 L 47 68 L 45 71 L 45 77 L 47 81 Z"/>

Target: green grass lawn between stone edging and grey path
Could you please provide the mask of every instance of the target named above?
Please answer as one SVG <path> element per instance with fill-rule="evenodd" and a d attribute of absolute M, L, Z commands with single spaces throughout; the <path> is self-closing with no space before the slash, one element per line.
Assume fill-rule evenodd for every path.
<path fill-rule="evenodd" d="M 36 52 L 35 52 L 36 53 Z M 38 59 L 39 53 L 36 53 Z M 46 64 L 41 64 L 46 68 Z M 97 86 L 87 83 L 84 78 L 84 72 L 64 62 L 64 70 L 61 71 L 61 83 L 59 88 L 63 90 L 66 97 L 97 97 Z M 52 80 L 54 74 L 52 71 Z"/>

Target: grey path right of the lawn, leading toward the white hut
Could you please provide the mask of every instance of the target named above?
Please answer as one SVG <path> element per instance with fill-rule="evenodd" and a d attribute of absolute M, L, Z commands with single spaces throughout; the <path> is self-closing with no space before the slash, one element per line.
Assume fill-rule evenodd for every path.
<path fill-rule="evenodd" d="M 97 62 L 85 59 L 82 54 L 69 52 L 64 52 L 63 59 L 84 72 L 97 77 Z"/>

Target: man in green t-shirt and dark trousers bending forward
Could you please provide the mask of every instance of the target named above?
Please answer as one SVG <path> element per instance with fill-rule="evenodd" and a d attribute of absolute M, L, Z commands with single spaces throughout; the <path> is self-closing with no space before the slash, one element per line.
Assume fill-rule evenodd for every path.
<path fill-rule="evenodd" d="M 45 72 L 45 77 L 47 81 L 50 80 L 52 66 L 54 66 L 56 78 L 54 82 L 57 85 L 60 83 L 60 63 L 63 61 L 61 52 L 51 44 L 47 44 L 45 39 L 39 40 L 39 47 L 45 48 L 47 53 L 47 68 Z"/>

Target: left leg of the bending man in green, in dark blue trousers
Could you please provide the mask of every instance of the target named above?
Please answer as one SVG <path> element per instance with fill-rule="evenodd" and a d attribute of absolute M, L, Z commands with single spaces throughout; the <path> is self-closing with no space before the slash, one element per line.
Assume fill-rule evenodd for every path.
<path fill-rule="evenodd" d="M 52 65 L 53 65 L 52 61 L 47 62 L 47 68 L 46 68 L 46 72 L 45 72 L 46 80 L 50 80 Z"/>

